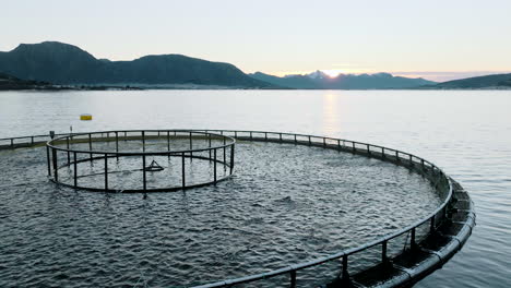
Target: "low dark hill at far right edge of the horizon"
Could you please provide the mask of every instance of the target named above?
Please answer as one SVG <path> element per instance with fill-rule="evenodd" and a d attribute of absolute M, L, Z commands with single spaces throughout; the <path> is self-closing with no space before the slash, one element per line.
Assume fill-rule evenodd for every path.
<path fill-rule="evenodd" d="M 511 88 L 510 74 L 495 74 L 477 77 L 453 80 L 424 88 L 432 89 L 482 89 L 482 88 Z"/>

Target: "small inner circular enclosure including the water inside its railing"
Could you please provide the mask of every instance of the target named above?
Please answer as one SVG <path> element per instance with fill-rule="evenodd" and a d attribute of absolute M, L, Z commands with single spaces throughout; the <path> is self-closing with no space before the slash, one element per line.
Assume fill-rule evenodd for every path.
<path fill-rule="evenodd" d="M 216 184 L 233 175 L 235 143 L 229 136 L 183 130 L 62 135 L 46 145 L 48 177 L 58 184 L 75 189 L 124 193 L 177 191 Z M 123 149 L 128 145 L 129 149 Z M 164 167 L 155 158 L 168 159 L 168 171 L 163 171 Z M 198 161 L 207 164 L 207 169 L 201 171 L 204 176 L 200 181 L 187 179 L 187 170 L 193 170 Z M 150 175 L 159 172 L 163 177 L 156 183 L 148 181 Z M 126 173 L 135 173 L 140 179 L 133 181 L 131 176 L 130 183 L 126 184 Z M 114 185 L 110 179 L 118 175 L 119 181 Z"/>

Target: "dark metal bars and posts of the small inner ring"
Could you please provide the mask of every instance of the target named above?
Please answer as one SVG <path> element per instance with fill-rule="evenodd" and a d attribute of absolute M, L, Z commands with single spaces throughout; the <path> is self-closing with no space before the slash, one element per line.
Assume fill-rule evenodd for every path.
<path fill-rule="evenodd" d="M 157 135 L 148 135 L 148 133 L 157 132 Z M 216 184 L 219 181 L 224 181 L 228 179 L 233 175 L 234 170 L 234 153 L 235 153 L 235 144 L 236 140 L 226 135 L 221 135 L 212 132 L 202 132 L 202 131 L 190 131 L 190 130 L 165 130 L 163 131 L 164 134 L 161 134 L 161 130 L 122 130 L 122 131 L 99 131 L 99 132 L 87 132 L 87 133 L 73 133 L 73 134 L 64 134 L 58 137 L 54 137 L 46 143 L 46 154 L 47 154 L 47 166 L 48 166 L 48 177 L 51 181 L 74 189 L 83 189 L 88 191 L 104 191 L 104 192 L 119 192 L 122 190 L 126 192 L 166 192 L 166 191 L 178 191 L 191 188 L 203 187 L 206 184 Z M 170 136 L 170 132 L 174 132 L 174 135 Z M 114 136 L 110 137 L 110 134 L 114 133 Z M 121 133 L 121 135 L 119 135 Z M 122 135 L 122 133 L 124 133 Z M 131 135 L 128 135 L 131 133 Z M 133 135 L 133 133 L 138 133 Z M 166 133 L 166 134 L 165 134 Z M 179 133 L 179 134 L 178 134 Z M 182 134 L 185 133 L 185 135 Z M 105 136 L 106 134 L 106 136 Z M 207 147 L 200 147 L 193 148 L 192 140 L 198 136 L 198 134 L 209 142 Z M 100 135 L 97 137 L 97 135 Z M 85 136 L 85 137 L 83 137 Z M 94 137 L 93 137 L 94 136 Z M 190 148 L 188 149 L 170 149 L 170 139 L 174 137 L 182 137 L 185 136 L 190 141 Z M 166 151 L 158 151 L 158 152 L 151 152 L 145 151 L 146 147 L 146 140 L 153 139 L 167 139 L 167 149 Z M 141 140 L 142 141 L 142 152 L 119 152 L 119 143 L 122 140 Z M 212 140 L 223 141 L 223 144 L 212 145 Z M 93 149 L 93 142 L 109 142 L 115 141 L 116 148 L 115 151 L 99 151 Z M 75 143 L 88 143 L 88 149 L 78 149 L 71 147 L 71 144 Z M 60 146 L 62 145 L 62 146 Z M 230 149 L 229 152 L 229 160 L 227 160 L 227 147 Z M 217 158 L 217 151 L 223 151 L 223 160 Z M 67 153 L 67 164 L 59 166 L 58 165 L 58 152 Z M 209 157 L 201 156 L 201 152 L 209 152 Z M 78 155 L 85 154 L 88 155 L 84 159 L 79 159 Z M 147 187 L 147 167 L 146 167 L 146 157 L 147 156 L 168 156 L 168 157 L 180 157 L 181 158 L 181 184 L 180 185 L 165 185 L 158 188 L 148 188 Z M 108 175 L 114 172 L 108 169 L 108 158 L 116 157 L 141 157 L 142 159 L 142 189 L 140 188 L 126 188 L 126 189 L 112 189 L 110 185 Z M 205 182 L 192 182 L 189 183 L 186 181 L 186 164 L 185 158 L 191 159 L 201 159 L 201 160 L 209 160 L 213 164 L 213 179 L 210 179 Z M 103 175 L 105 183 L 100 187 L 98 185 L 79 185 L 79 178 L 81 176 L 78 175 L 78 164 L 84 161 L 96 161 L 96 160 L 104 160 L 104 168 Z M 224 167 L 224 170 L 228 172 L 226 176 L 218 176 L 217 175 L 217 164 Z M 64 167 L 73 167 L 72 171 L 72 183 L 66 183 L 61 181 L 59 178 L 59 169 Z"/>

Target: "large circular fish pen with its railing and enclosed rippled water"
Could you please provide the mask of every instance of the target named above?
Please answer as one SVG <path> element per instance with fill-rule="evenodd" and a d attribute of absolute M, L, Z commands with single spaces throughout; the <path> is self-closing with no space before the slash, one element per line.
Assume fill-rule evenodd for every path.
<path fill-rule="evenodd" d="M 1 170 L 10 225 L 0 232 L 8 243 L 0 286 L 23 275 L 31 277 L 15 284 L 407 286 L 441 267 L 475 225 L 461 185 L 388 147 L 259 131 L 106 131 L 91 142 L 88 134 L 48 146 L 48 136 L 0 140 L 1 167 L 11 167 Z M 215 171 L 229 180 L 215 185 Z M 76 187 L 92 190 L 143 192 L 146 182 L 145 191 L 182 192 L 82 193 L 75 173 Z"/>

